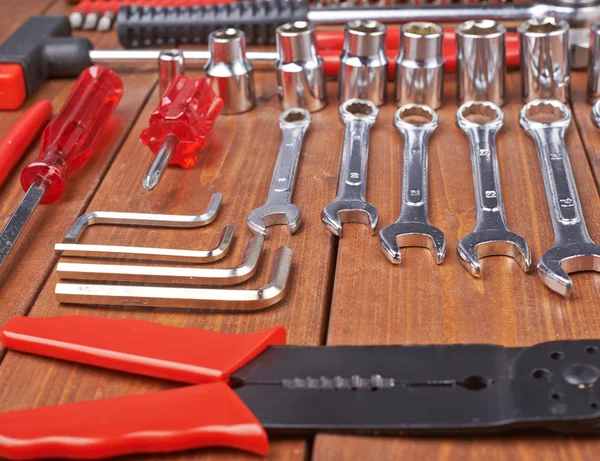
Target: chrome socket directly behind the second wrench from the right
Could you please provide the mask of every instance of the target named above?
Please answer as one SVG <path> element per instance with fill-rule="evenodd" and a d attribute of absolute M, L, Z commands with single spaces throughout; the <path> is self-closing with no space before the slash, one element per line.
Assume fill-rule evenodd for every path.
<path fill-rule="evenodd" d="M 466 21 L 456 28 L 458 103 L 489 101 L 504 105 L 506 28 L 496 21 Z"/>

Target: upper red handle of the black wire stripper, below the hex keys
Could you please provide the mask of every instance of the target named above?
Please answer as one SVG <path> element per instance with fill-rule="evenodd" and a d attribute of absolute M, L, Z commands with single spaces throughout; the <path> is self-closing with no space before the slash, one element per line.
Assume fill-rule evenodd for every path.
<path fill-rule="evenodd" d="M 183 383 L 225 381 L 285 336 L 283 327 L 235 335 L 84 315 L 14 317 L 0 330 L 9 349 Z"/>

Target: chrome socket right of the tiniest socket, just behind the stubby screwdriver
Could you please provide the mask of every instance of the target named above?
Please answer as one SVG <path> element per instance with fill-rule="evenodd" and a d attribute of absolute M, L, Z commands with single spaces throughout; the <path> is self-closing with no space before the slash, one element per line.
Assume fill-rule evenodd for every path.
<path fill-rule="evenodd" d="M 210 59 L 204 66 L 213 91 L 223 99 L 222 114 L 241 114 L 255 105 L 252 64 L 246 59 L 246 36 L 238 29 L 208 36 Z"/>

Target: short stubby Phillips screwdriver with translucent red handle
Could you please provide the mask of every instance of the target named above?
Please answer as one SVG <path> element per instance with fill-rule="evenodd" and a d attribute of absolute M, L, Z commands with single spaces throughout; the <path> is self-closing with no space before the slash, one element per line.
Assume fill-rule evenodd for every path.
<path fill-rule="evenodd" d="M 168 164 L 191 168 L 221 112 L 219 98 L 206 78 L 179 75 L 166 89 L 140 140 L 156 155 L 142 186 L 156 187 Z"/>

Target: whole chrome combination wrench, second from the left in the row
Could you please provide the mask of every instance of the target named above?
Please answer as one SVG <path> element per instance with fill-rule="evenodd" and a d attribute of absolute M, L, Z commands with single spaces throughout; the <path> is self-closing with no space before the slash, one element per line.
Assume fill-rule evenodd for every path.
<path fill-rule="evenodd" d="M 321 219 L 335 235 L 342 236 L 343 223 L 363 223 L 375 233 L 379 216 L 367 203 L 367 165 L 369 133 L 379 110 L 371 101 L 349 99 L 340 106 L 340 117 L 346 128 L 340 166 L 340 179 L 335 200 L 323 208 Z"/>

